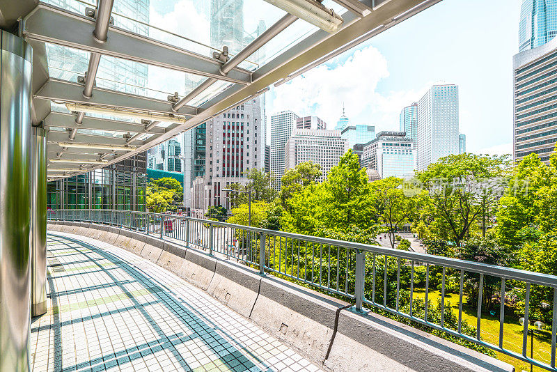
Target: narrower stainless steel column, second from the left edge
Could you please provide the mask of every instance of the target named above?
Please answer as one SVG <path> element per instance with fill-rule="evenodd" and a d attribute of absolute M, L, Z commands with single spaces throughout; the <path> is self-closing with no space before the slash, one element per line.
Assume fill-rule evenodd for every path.
<path fill-rule="evenodd" d="M 31 316 L 47 312 L 47 132 L 31 135 Z"/>

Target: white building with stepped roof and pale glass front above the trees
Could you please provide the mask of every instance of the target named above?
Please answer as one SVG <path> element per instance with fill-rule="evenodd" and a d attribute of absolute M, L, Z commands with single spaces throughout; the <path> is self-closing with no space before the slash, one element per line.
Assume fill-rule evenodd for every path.
<path fill-rule="evenodd" d="M 362 162 L 381 178 L 414 176 L 416 148 L 406 132 L 379 132 L 363 148 Z"/>

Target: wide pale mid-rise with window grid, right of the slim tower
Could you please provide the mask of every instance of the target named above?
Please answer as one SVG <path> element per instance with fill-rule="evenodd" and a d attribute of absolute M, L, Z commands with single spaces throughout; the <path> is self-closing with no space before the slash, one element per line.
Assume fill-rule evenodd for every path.
<path fill-rule="evenodd" d="M 295 129 L 286 142 L 285 169 L 310 161 L 320 164 L 322 175 L 317 182 L 323 182 L 347 150 L 346 139 L 338 130 Z"/>

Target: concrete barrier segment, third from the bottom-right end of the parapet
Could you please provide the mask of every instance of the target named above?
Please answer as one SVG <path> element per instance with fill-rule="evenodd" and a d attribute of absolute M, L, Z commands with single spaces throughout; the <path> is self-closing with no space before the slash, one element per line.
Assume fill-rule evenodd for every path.
<path fill-rule="evenodd" d="M 217 261 L 207 293 L 246 318 L 251 315 L 262 277 L 237 263 Z"/>

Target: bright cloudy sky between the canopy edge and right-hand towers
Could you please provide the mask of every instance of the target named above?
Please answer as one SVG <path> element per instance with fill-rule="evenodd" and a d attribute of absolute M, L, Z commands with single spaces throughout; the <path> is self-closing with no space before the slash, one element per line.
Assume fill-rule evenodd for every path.
<path fill-rule="evenodd" d="M 436 83 L 460 89 L 467 150 L 512 151 L 512 56 L 520 0 L 444 0 L 345 54 L 274 88 L 267 115 L 292 109 L 333 129 L 343 102 L 352 123 L 398 129 L 398 113 Z"/>

